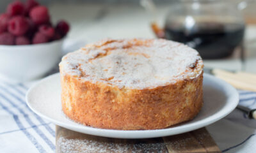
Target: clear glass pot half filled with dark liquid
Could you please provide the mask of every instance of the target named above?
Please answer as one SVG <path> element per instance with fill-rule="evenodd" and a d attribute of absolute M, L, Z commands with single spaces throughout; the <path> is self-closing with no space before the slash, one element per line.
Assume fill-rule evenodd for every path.
<path fill-rule="evenodd" d="M 241 3 L 242 4 L 242 3 Z M 203 59 L 228 57 L 243 43 L 243 5 L 223 0 L 181 0 L 170 6 L 157 36 L 195 48 Z"/>

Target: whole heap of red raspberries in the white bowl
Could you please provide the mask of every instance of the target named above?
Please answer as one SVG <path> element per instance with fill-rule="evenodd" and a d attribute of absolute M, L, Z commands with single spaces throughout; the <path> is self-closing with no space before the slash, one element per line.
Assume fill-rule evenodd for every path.
<path fill-rule="evenodd" d="M 35 0 L 14 1 L 0 15 L 0 45 L 29 45 L 60 40 L 69 25 L 60 20 L 52 25 L 48 9 Z"/>

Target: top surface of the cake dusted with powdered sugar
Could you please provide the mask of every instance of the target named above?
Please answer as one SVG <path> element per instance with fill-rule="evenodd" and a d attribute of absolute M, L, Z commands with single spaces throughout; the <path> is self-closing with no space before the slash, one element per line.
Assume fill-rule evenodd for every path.
<path fill-rule="evenodd" d="M 196 50 L 161 39 L 103 40 L 65 55 L 61 72 L 119 88 L 152 88 L 202 73 Z"/>

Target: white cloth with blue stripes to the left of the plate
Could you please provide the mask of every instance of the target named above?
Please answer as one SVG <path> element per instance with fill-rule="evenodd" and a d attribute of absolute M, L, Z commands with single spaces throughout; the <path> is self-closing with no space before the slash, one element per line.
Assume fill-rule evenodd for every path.
<path fill-rule="evenodd" d="M 55 152 L 55 126 L 28 108 L 26 91 L 0 82 L 0 152 Z"/>

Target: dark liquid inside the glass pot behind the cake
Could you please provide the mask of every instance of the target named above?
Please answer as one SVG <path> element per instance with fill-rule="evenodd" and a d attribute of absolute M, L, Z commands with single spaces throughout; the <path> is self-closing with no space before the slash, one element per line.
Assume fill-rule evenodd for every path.
<path fill-rule="evenodd" d="M 195 48 L 203 59 L 217 59 L 231 55 L 241 45 L 244 25 L 202 22 L 188 29 L 183 25 L 168 24 L 164 32 L 166 39 Z"/>

